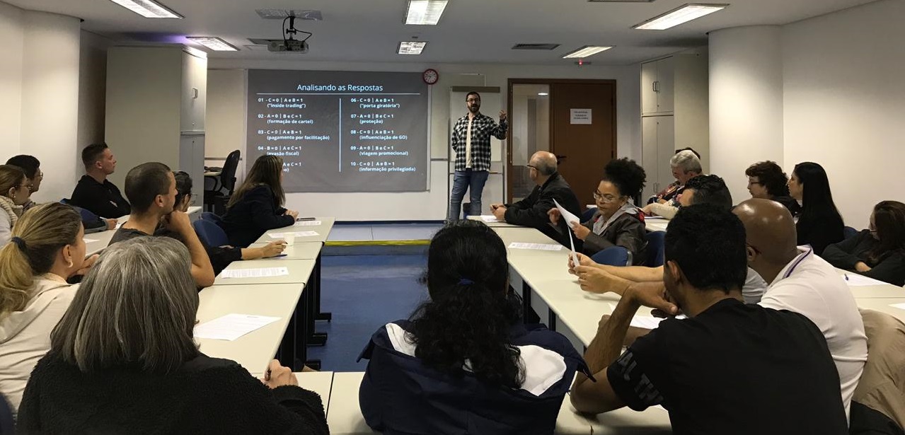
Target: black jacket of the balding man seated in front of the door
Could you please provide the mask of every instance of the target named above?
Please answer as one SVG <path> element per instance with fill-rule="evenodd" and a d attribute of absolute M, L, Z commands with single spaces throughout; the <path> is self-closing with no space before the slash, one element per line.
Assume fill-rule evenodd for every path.
<path fill-rule="evenodd" d="M 570 213 L 581 216 L 581 205 L 578 204 L 578 198 L 572 192 L 572 188 L 566 183 L 566 179 L 559 175 L 558 172 L 550 175 L 544 185 L 539 185 L 531 191 L 527 198 L 508 205 L 506 207 L 506 222 L 534 227 L 547 234 L 548 237 L 555 240 L 561 240 L 560 234 L 568 231 L 566 220 L 559 220 L 559 229 L 553 227 L 547 212 L 551 208 L 556 208 L 553 200 L 556 199 L 559 205 L 562 205 Z M 576 247 L 577 249 L 577 247 Z"/>

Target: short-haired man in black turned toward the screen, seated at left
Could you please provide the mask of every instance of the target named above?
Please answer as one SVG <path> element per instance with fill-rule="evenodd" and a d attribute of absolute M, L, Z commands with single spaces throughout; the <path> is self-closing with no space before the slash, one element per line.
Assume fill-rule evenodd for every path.
<path fill-rule="evenodd" d="M 115 219 L 129 214 L 129 203 L 107 179 L 116 170 L 116 158 L 107 144 L 85 147 L 81 150 L 81 163 L 85 165 L 85 175 L 75 185 L 70 203 L 102 218 Z"/>

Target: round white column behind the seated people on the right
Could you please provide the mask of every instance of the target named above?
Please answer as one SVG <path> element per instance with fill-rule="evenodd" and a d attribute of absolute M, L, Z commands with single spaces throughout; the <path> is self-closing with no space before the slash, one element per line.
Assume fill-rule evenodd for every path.
<path fill-rule="evenodd" d="M 710 172 L 735 203 L 750 198 L 748 165 L 783 165 L 781 37 L 778 26 L 710 33 Z"/>

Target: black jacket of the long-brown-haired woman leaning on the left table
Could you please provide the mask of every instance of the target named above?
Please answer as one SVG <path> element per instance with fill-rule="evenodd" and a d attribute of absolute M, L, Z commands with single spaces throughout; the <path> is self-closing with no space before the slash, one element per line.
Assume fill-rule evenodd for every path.
<path fill-rule="evenodd" d="M 292 216 L 284 216 L 283 213 L 286 209 L 280 206 L 271 187 L 262 184 L 248 191 L 226 210 L 223 222 L 218 224 L 226 232 L 231 245 L 246 248 L 267 230 L 295 223 Z"/>

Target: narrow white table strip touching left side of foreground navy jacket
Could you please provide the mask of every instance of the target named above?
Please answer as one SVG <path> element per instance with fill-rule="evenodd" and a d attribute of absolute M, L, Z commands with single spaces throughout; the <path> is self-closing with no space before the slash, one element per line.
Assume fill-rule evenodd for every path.
<path fill-rule="evenodd" d="M 367 426 L 365 417 L 361 415 L 361 406 L 358 405 L 358 387 L 364 377 L 364 372 L 333 374 L 333 389 L 327 411 L 327 425 L 332 435 L 380 433 Z"/>

